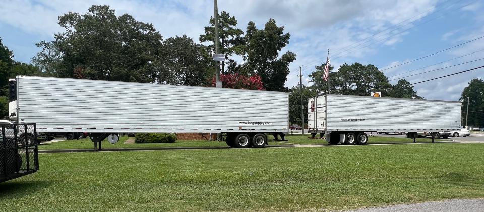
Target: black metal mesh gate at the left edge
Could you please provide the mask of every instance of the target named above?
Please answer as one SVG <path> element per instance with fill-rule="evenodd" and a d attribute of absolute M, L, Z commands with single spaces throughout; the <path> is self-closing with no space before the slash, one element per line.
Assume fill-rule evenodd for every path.
<path fill-rule="evenodd" d="M 39 170 L 35 124 L 0 124 L 0 182 Z"/>

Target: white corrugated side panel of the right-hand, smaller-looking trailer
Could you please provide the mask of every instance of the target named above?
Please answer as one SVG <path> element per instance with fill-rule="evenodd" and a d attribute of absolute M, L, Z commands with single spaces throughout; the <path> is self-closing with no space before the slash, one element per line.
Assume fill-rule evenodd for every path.
<path fill-rule="evenodd" d="M 327 126 L 330 132 L 459 130 L 460 106 L 454 101 L 328 95 Z"/>

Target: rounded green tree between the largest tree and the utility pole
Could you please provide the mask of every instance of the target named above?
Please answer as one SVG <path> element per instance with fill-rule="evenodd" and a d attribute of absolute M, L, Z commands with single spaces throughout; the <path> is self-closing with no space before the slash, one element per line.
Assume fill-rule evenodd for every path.
<path fill-rule="evenodd" d="M 164 42 L 165 55 L 162 73 L 167 74 L 168 84 L 208 86 L 214 75 L 212 62 L 203 45 L 196 44 L 192 38 L 168 38 Z"/>

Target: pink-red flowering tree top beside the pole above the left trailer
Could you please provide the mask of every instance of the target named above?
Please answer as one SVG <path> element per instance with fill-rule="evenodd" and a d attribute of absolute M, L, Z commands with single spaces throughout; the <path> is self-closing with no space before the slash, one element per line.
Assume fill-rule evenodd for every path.
<path fill-rule="evenodd" d="M 265 90 L 262 84 L 262 78 L 259 75 L 248 77 L 239 75 L 238 73 L 222 74 L 220 75 L 220 80 L 224 88 Z M 215 77 L 212 79 L 212 86 L 215 87 Z"/>

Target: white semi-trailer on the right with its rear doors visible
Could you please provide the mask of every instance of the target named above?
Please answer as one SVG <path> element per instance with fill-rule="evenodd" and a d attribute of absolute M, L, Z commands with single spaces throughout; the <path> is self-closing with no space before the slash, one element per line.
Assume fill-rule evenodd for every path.
<path fill-rule="evenodd" d="M 371 96 L 325 95 L 308 99 L 308 131 L 330 144 L 366 144 L 366 132 L 456 131 L 461 103 Z M 434 138 L 434 136 L 433 136 Z M 415 141 L 415 140 L 414 140 Z"/>

